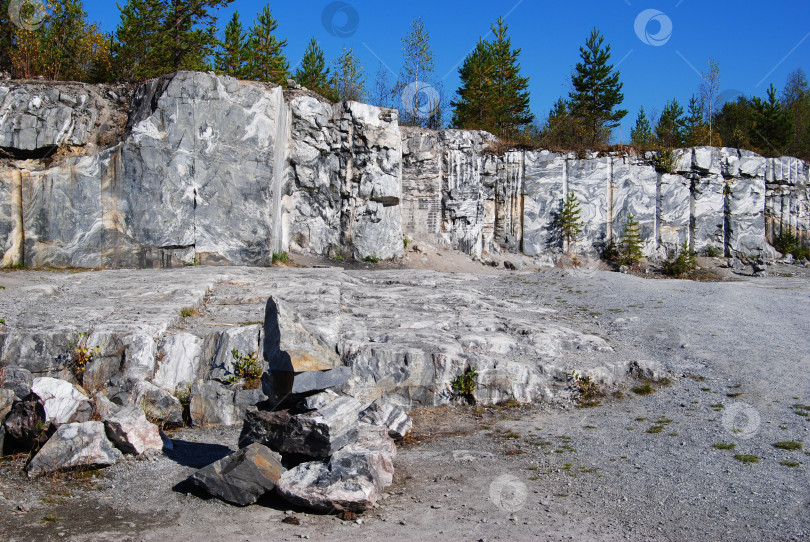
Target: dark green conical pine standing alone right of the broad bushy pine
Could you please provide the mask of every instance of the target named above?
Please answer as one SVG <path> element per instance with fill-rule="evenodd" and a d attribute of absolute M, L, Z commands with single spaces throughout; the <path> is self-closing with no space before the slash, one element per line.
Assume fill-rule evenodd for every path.
<path fill-rule="evenodd" d="M 619 82 L 619 72 L 609 64 L 610 45 L 595 28 L 579 48 L 582 59 L 576 65 L 571 77 L 574 90 L 569 94 L 571 111 L 575 117 L 585 121 L 588 140 L 584 143 L 596 145 L 607 143 L 610 131 L 619 126 L 627 115 L 626 109 L 616 109 L 624 101 L 623 84 Z"/>

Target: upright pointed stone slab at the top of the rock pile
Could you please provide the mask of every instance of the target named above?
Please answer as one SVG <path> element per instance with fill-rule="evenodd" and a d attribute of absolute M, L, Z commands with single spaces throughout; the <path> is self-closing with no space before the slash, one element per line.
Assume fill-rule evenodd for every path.
<path fill-rule="evenodd" d="M 310 334 L 292 310 L 272 297 L 264 313 L 264 359 L 270 371 L 326 371 L 341 365 L 333 349 Z"/>

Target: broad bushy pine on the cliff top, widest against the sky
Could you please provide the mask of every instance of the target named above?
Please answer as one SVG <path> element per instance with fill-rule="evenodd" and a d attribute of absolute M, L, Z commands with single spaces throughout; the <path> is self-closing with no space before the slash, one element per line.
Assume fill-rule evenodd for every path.
<path fill-rule="evenodd" d="M 492 25 L 494 40 L 480 40 L 459 68 L 461 87 L 451 103 L 454 127 L 515 136 L 534 120 L 529 79 L 520 75 L 521 51 L 512 48 L 508 29 L 499 18 Z"/>

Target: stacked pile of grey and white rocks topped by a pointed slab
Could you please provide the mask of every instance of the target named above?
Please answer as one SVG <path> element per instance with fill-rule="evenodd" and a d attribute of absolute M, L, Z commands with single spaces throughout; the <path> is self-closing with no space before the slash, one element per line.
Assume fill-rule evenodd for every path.
<path fill-rule="evenodd" d="M 340 393 L 350 369 L 334 352 L 318 356 L 306 341 L 282 341 L 273 298 L 264 326 L 262 389 L 270 399 L 248 409 L 240 450 L 190 480 L 240 506 L 275 489 L 318 512 L 368 510 L 393 481 L 393 439 L 410 430 L 410 417 L 384 400 L 369 406 Z"/>

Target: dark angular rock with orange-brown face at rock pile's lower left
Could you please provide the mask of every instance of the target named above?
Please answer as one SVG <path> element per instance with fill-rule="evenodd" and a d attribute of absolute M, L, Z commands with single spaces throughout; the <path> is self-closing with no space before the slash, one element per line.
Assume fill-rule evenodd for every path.
<path fill-rule="evenodd" d="M 203 467 L 189 479 L 214 497 L 247 506 L 273 489 L 284 470 L 281 456 L 266 446 L 251 444 Z"/>

